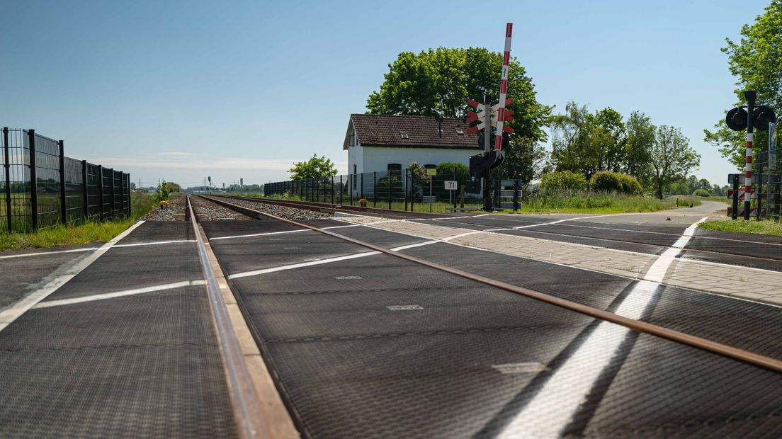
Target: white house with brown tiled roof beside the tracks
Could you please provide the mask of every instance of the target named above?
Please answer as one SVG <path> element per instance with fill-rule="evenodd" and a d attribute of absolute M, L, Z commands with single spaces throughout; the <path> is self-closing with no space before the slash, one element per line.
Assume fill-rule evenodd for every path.
<path fill-rule="evenodd" d="M 434 116 L 351 114 L 343 150 L 353 181 L 361 173 L 404 170 L 411 162 L 427 167 L 443 162 L 469 166 L 482 152 L 478 137 L 461 119 Z"/>

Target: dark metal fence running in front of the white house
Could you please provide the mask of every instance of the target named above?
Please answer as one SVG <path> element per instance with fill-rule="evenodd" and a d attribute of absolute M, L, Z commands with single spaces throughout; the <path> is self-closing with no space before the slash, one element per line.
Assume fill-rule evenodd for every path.
<path fill-rule="evenodd" d="M 464 191 L 468 180 L 466 172 L 456 169 L 440 169 L 426 177 L 416 177 L 410 170 L 388 170 L 268 183 L 264 195 L 334 205 L 361 205 L 366 200 L 368 207 L 418 212 L 481 209 L 480 195 Z M 455 181 L 455 187 L 447 181 Z"/>

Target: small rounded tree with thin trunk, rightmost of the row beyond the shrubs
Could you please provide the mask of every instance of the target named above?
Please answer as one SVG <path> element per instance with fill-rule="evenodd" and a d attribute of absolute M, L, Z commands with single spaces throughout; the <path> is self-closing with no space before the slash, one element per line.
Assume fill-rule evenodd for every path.
<path fill-rule="evenodd" d="M 662 199 L 669 184 L 683 179 L 700 162 L 701 155 L 691 148 L 690 139 L 684 137 L 679 128 L 666 125 L 658 127 L 650 154 L 655 195 Z"/>

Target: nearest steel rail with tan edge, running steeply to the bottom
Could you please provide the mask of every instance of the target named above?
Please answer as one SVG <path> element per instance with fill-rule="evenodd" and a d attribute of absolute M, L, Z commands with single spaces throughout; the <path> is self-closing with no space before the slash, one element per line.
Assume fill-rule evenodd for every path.
<path fill-rule="evenodd" d="M 228 393 L 231 396 L 231 404 L 234 408 L 239 436 L 244 438 L 269 437 L 269 422 L 265 419 L 263 410 L 260 408 L 260 402 L 253 387 L 252 378 L 244 362 L 242 348 L 239 346 L 231 324 L 228 309 L 226 308 L 220 287 L 217 284 L 209 255 L 206 253 L 206 247 L 201 236 L 201 230 L 197 224 L 195 211 L 190 203 L 190 197 L 187 197 L 188 218 L 192 222 L 193 232 L 195 233 L 195 242 L 198 247 L 199 260 L 203 277 L 206 280 L 206 292 L 209 296 L 212 316 L 217 330 L 217 341 L 220 344 L 220 352 L 223 359 L 225 375 L 228 381 Z"/>

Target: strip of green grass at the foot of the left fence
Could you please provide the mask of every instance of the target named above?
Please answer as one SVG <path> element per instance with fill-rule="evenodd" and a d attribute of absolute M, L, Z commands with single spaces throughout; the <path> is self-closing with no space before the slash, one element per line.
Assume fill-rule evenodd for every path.
<path fill-rule="evenodd" d="M 152 200 L 151 194 L 134 192 L 131 194 L 131 216 L 129 218 L 59 224 L 29 234 L 0 234 L 0 252 L 106 242 L 122 233 L 127 227 L 131 227 L 136 219 L 149 212 L 153 205 L 155 202 Z"/>

